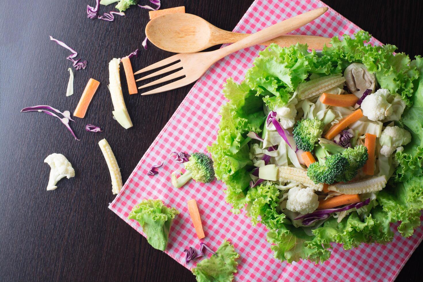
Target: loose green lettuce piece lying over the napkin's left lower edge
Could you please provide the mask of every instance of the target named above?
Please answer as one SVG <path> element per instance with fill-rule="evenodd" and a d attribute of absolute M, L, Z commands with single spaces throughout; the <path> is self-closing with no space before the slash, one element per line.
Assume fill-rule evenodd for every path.
<path fill-rule="evenodd" d="M 173 219 L 179 211 L 165 206 L 162 200 L 144 199 L 132 208 L 128 219 L 135 219 L 143 228 L 148 244 L 154 249 L 165 251 Z"/>

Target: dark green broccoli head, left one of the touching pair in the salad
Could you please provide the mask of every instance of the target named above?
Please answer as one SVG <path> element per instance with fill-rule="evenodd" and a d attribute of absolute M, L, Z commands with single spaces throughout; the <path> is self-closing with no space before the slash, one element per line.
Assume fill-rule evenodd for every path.
<path fill-rule="evenodd" d="M 341 175 L 348 166 L 348 159 L 341 154 L 331 155 L 326 158 L 324 164 L 314 162 L 310 164 L 307 170 L 307 176 L 314 183 L 332 184 Z"/>

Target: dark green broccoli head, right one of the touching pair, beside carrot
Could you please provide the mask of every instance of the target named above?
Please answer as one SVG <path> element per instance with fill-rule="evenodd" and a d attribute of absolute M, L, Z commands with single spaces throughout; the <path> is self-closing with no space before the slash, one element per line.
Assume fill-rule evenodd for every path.
<path fill-rule="evenodd" d="M 336 181 L 338 182 L 347 182 L 354 178 L 358 170 L 367 162 L 369 155 L 367 153 L 367 148 L 360 145 L 354 148 L 346 148 L 342 152 L 342 156 L 348 160 L 348 166 L 345 172 L 337 178 Z"/>

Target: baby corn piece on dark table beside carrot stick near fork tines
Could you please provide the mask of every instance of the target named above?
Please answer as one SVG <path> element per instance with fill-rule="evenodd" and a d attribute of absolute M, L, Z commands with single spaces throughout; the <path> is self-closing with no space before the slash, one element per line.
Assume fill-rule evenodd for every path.
<path fill-rule="evenodd" d="M 124 129 L 129 129 L 132 127 L 132 120 L 129 117 L 128 110 L 126 109 L 124 95 L 122 94 L 121 87 L 121 77 L 119 75 L 119 63 L 120 59 L 114 58 L 109 63 L 109 91 L 110 96 L 112 97 L 112 103 L 114 107 L 113 116 L 118 121 L 118 123 L 124 127 Z"/>

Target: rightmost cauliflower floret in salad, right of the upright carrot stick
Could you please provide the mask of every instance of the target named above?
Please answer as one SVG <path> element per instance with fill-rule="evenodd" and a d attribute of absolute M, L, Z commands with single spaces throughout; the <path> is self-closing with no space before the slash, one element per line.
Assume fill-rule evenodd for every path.
<path fill-rule="evenodd" d="M 382 146 L 380 153 L 389 158 L 395 150 L 402 152 L 404 145 L 411 141 L 409 131 L 398 126 L 387 126 L 380 135 L 379 144 Z"/>

